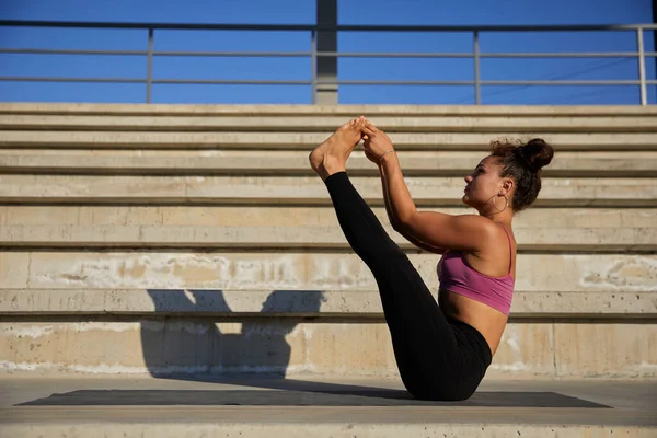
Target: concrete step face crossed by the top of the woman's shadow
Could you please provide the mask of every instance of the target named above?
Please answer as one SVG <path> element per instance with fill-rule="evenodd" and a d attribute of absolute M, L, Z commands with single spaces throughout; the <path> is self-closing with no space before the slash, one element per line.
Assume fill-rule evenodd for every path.
<path fill-rule="evenodd" d="M 380 319 L 383 310 L 378 290 L 0 289 L 7 316 L 153 314 Z M 657 292 L 516 290 L 511 318 L 655 319 Z"/>

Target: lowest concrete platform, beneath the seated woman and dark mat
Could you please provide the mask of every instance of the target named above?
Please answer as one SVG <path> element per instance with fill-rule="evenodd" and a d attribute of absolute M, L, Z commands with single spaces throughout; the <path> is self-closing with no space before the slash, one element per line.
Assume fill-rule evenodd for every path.
<path fill-rule="evenodd" d="M 657 434 L 655 390 L 649 382 L 485 381 L 466 402 L 419 402 L 397 381 L 374 379 L 10 379 L 0 382 L 0 434 L 648 438 Z"/>

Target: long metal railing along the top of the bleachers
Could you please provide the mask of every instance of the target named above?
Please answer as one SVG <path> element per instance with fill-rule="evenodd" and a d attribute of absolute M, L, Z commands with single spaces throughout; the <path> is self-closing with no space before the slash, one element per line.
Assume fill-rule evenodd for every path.
<path fill-rule="evenodd" d="M 338 85 L 465 85 L 474 87 L 475 103 L 482 104 L 481 89 L 486 85 L 637 85 L 642 105 L 647 105 L 647 87 L 657 85 L 657 80 L 646 78 L 646 58 L 655 58 L 656 51 L 646 51 L 645 31 L 657 31 L 657 24 L 633 25 L 516 25 L 516 26 L 425 26 L 425 25 L 337 25 L 332 27 L 304 24 L 168 24 L 168 23 L 82 23 L 44 21 L 0 21 L 0 26 L 30 27 L 76 27 L 76 28 L 123 28 L 148 31 L 147 50 L 76 50 L 76 49 L 35 49 L 0 48 L 0 54 L 48 54 L 48 55 L 126 55 L 145 56 L 146 78 L 54 78 L 54 77 L 0 77 L 0 81 L 32 82 L 97 82 L 97 83 L 143 83 L 146 102 L 150 103 L 153 84 L 270 84 L 270 85 L 311 85 L 312 102 L 315 102 L 318 87 Z M 310 51 L 163 51 L 153 49 L 155 31 L 286 31 L 310 34 Z M 596 51 L 596 53 L 482 53 L 480 36 L 484 32 L 583 32 L 583 31 L 634 31 L 636 32 L 636 51 Z M 471 53 L 338 53 L 319 51 L 319 32 L 470 32 L 473 49 Z M 309 57 L 311 60 L 311 80 L 184 80 L 153 79 L 153 57 L 193 56 L 193 57 Z M 316 65 L 319 57 L 335 58 L 470 58 L 474 60 L 473 81 L 362 81 L 319 79 Z M 638 79 L 636 80 L 533 80 L 533 81 L 487 81 L 481 79 L 482 58 L 636 58 Z"/>

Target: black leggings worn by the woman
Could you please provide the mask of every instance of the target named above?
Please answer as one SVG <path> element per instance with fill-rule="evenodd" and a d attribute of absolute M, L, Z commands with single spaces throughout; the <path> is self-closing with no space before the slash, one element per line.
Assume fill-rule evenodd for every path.
<path fill-rule="evenodd" d="M 377 280 L 406 390 L 422 400 L 469 399 L 491 365 L 486 339 L 471 325 L 442 314 L 346 172 L 328 176 L 325 184 L 347 241 Z"/>

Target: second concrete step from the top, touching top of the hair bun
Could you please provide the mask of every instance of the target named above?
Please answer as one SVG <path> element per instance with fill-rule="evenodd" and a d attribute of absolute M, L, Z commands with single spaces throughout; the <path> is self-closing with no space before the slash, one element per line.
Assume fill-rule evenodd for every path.
<path fill-rule="evenodd" d="M 35 131 L 4 130 L 2 148 L 94 148 L 94 149 L 256 149 L 306 150 L 322 143 L 334 129 L 324 132 L 140 132 L 140 131 Z M 489 150 L 492 140 L 529 140 L 540 137 L 558 150 L 657 150 L 654 132 L 563 134 L 533 131 L 495 132 L 391 132 L 396 149 Z"/>

